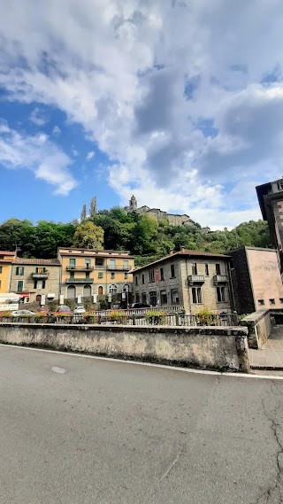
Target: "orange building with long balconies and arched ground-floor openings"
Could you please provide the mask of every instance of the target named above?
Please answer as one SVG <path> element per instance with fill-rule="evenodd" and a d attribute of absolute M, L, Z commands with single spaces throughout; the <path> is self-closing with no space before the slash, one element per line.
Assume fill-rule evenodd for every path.
<path fill-rule="evenodd" d="M 65 299 L 132 292 L 134 257 L 126 251 L 58 248 Z"/>

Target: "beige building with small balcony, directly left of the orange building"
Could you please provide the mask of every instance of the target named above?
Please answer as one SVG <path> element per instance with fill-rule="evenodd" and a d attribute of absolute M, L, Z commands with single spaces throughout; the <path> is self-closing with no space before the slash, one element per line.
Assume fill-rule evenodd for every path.
<path fill-rule="evenodd" d="M 11 265 L 10 292 L 17 292 L 25 302 L 59 298 L 60 262 L 56 259 L 15 258 Z"/>

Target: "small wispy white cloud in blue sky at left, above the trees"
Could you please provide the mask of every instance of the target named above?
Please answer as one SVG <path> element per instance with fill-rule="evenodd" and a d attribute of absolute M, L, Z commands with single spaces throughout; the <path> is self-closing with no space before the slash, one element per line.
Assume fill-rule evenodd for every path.
<path fill-rule="evenodd" d="M 7 124 L 0 128 L 0 164 L 8 169 L 31 170 L 36 178 L 53 185 L 57 195 L 66 196 L 77 185 L 69 171 L 71 162 L 44 134 L 23 136 Z"/>

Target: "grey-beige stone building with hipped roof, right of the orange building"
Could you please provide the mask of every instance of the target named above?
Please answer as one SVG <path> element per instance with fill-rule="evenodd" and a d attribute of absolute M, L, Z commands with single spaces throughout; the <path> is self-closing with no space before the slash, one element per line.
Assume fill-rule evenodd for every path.
<path fill-rule="evenodd" d="M 207 306 L 215 313 L 233 310 L 229 258 L 182 249 L 133 271 L 136 303 L 180 306 L 189 314 Z"/>

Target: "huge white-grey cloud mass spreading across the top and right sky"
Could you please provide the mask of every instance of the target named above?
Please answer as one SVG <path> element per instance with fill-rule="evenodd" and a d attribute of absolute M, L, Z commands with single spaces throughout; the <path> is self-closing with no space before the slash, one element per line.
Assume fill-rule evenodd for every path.
<path fill-rule="evenodd" d="M 0 85 L 82 125 L 121 201 L 230 225 L 282 172 L 282 22 L 280 0 L 11 0 Z"/>

